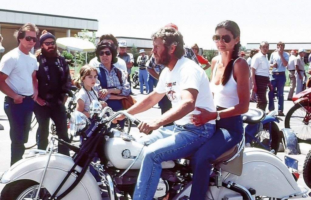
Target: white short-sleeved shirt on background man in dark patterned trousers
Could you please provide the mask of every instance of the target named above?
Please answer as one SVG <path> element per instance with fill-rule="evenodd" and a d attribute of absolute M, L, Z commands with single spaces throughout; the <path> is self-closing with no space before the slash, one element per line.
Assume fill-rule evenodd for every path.
<path fill-rule="evenodd" d="M 255 69 L 255 75 L 269 77 L 270 62 L 261 51 L 253 56 L 251 67 Z"/>

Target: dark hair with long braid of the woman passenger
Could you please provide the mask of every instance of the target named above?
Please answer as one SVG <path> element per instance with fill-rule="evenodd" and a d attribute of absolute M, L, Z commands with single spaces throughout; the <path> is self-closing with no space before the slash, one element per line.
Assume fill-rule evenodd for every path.
<path fill-rule="evenodd" d="M 215 31 L 219 28 L 224 28 L 225 30 L 229 30 L 230 33 L 233 35 L 233 38 L 240 36 L 240 28 L 234 21 L 230 21 L 230 20 L 222 21 L 219 24 L 217 24 Z M 233 49 L 233 53 L 232 53 L 232 60 L 226 66 L 224 75 L 221 78 L 221 84 L 223 86 L 230 79 L 232 69 L 233 69 L 234 60 L 239 57 L 240 46 L 241 46 L 240 41 L 234 45 L 234 49 Z"/>

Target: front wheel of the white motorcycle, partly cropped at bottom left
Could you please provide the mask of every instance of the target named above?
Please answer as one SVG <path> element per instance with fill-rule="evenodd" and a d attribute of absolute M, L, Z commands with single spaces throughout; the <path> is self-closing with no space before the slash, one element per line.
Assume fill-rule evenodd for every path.
<path fill-rule="evenodd" d="M 7 184 L 1 194 L 0 200 L 30 200 L 35 199 L 39 184 L 32 180 L 18 180 Z M 38 199 L 48 200 L 51 197 L 49 191 L 41 187 Z"/>

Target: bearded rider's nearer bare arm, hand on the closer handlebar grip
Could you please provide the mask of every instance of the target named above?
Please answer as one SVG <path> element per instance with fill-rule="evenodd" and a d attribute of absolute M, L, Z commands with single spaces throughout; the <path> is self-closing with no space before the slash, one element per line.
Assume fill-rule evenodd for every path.
<path fill-rule="evenodd" d="M 139 128 L 139 131 L 142 133 L 150 133 L 152 130 L 156 130 L 160 128 L 160 126 L 163 126 L 168 123 L 172 123 L 178 119 L 181 119 L 186 114 L 190 113 L 195 109 L 195 102 L 197 100 L 197 94 L 198 91 L 193 88 L 189 88 L 186 90 L 182 90 L 180 93 L 181 101 L 179 102 L 179 105 L 169 109 L 167 112 L 161 115 L 160 118 L 144 122 L 142 121 L 137 128 Z M 161 96 L 160 96 L 161 97 Z M 163 97 L 163 94 L 162 94 Z M 138 106 L 138 105 L 137 105 Z"/>

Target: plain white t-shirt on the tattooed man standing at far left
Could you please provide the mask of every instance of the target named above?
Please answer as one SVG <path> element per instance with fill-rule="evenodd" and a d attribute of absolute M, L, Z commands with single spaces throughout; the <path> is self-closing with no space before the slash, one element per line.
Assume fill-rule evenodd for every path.
<path fill-rule="evenodd" d="M 25 54 L 18 47 L 4 54 L 0 71 L 8 75 L 5 82 L 17 94 L 30 96 L 34 93 L 32 73 L 39 69 L 35 56 Z"/>

